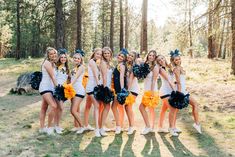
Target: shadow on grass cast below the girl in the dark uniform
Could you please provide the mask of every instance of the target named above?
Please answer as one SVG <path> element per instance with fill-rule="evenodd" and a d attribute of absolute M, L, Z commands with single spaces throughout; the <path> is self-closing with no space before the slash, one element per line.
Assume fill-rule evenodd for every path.
<path fill-rule="evenodd" d="M 122 143 L 122 133 L 119 135 L 115 134 L 113 142 L 109 144 L 108 149 L 103 153 L 103 156 L 119 157 L 121 154 Z"/>

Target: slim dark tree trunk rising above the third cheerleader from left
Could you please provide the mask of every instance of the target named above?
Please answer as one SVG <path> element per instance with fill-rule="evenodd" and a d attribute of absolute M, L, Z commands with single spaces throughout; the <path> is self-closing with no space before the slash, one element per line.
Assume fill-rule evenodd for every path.
<path fill-rule="evenodd" d="M 77 43 L 76 43 L 76 49 L 82 49 L 81 36 L 82 36 L 81 0 L 77 0 Z"/>

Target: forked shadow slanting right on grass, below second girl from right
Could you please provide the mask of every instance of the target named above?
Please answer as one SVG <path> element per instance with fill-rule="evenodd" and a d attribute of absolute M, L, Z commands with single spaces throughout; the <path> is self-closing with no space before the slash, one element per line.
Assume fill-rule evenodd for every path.
<path fill-rule="evenodd" d="M 165 146 L 168 148 L 168 150 L 171 152 L 171 154 L 174 157 L 182 157 L 182 156 L 192 156 L 196 157 L 192 152 L 190 152 L 178 139 L 178 137 L 170 137 L 170 140 L 172 141 L 173 145 L 166 139 L 166 134 L 160 134 L 160 137 L 165 144 Z"/>

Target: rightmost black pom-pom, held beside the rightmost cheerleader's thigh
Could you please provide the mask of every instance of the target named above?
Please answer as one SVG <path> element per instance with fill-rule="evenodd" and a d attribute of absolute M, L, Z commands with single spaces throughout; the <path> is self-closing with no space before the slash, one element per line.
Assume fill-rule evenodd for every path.
<path fill-rule="evenodd" d="M 179 91 L 172 91 L 168 102 L 174 108 L 183 109 L 189 104 L 189 94 L 184 95 Z"/>

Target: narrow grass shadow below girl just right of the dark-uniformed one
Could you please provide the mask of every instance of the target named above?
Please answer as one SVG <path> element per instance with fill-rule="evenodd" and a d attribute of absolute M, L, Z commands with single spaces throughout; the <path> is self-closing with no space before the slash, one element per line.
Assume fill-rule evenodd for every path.
<path fill-rule="evenodd" d="M 122 151 L 122 156 L 128 156 L 128 157 L 135 156 L 132 150 L 132 144 L 134 142 L 135 134 L 136 134 L 136 131 L 132 135 L 128 135 L 128 140 Z"/>

